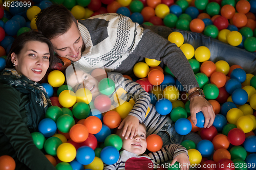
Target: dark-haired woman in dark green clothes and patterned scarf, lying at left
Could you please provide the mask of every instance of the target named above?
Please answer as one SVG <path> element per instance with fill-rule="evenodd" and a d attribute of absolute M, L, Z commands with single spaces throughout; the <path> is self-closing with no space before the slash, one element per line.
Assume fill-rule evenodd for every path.
<path fill-rule="evenodd" d="M 31 137 L 51 106 L 37 82 L 54 60 L 50 40 L 30 31 L 14 40 L 0 73 L 0 156 L 13 157 L 15 169 L 55 169 Z"/>

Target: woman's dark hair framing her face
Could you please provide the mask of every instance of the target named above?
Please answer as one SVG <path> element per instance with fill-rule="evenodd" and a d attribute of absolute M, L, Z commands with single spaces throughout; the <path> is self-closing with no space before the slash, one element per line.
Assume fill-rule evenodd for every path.
<path fill-rule="evenodd" d="M 22 51 L 22 49 L 24 48 L 24 45 L 29 41 L 44 42 L 48 45 L 49 52 L 50 52 L 49 68 L 51 68 L 51 65 L 55 64 L 55 62 L 58 61 L 58 58 L 54 55 L 53 46 L 52 46 L 51 41 L 49 39 L 47 39 L 44 35 L 42 35 L 38 32 L 29 31 L 29 32 L 20 34 L 13 41 L 10 52 L 6 58 L 6 66 L 5 66 L 6 68 L 14 68 L 13 63 L 11 61 L 11 54 L 15 53 L 16 55 L 19 55 L 20 51 Z"/>

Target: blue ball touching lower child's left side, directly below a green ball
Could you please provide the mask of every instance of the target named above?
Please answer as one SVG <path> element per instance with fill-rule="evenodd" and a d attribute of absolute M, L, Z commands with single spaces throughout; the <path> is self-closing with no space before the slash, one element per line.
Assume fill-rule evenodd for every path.
<path fill-rule="evenodd" d="M 103 163 L 107 165 L 112 165 L 116 163 L 119 159 L 119 152 L 115 147 L 105 147 L 100 152 L 100 158 Z"/>

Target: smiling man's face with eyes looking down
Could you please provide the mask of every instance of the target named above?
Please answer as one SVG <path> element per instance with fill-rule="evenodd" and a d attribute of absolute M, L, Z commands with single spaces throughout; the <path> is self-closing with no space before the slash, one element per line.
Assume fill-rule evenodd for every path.
<path fill-rule="evenodd" d="M 78 61 L 84 51 L 82 36 L 76 23 L 73 22 L 71 28 L 56 38 L 51 39 L 55 53 L 60 57 L 65 57 L 71 61 Z"/>

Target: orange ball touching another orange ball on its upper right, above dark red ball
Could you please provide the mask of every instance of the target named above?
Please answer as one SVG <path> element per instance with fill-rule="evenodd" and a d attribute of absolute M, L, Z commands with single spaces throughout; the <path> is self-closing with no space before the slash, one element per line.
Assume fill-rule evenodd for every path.
<path fill-rule="evenodd" d="M 69 132 L 71 140 L 76 143 L 84 142 L 89 135 L 87 127 L 81 124 L 74 125 Z"/>

